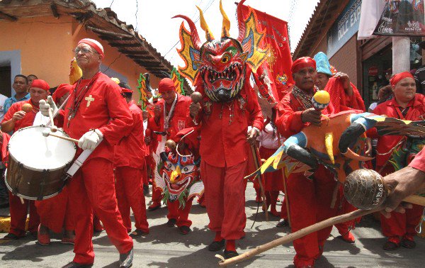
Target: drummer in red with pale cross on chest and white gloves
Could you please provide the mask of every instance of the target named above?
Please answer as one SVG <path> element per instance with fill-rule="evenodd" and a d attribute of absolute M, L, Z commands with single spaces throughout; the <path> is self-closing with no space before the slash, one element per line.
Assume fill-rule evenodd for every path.
<path fill-rule="evenodd" d="M 120 252 L 120 267 L 132 265 L 132 238 L 118 211 L 113 178 L 113 146 L 130 133 L 132 116 L 121 89 L 111 78 L 99 70 L 103 47 L 93 39 L 82 39 L 74 50 L 83 76 L 73 87 L 64 109 L 64 131 L 79 139 L 82 150 L 92 150 L 67 185 L 73 197 L 71 215 L 75 225 L 75 257 L 64 267 L 91 267 L 94 263 L 93 211 L 102 221 L 108 238 Z M 52 106 L 42 107 L 43 115 Z M 77 155 L 81 150 L 77 151 Z"/>

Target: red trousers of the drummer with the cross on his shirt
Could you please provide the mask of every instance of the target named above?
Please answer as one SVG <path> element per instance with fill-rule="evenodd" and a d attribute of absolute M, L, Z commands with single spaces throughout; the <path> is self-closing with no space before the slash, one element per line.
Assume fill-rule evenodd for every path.
<path fill-rule="evenodd" d="M 71 215 L 75 225 L 74 262 L 94 263 L 93 211 L 102 221 L 109 240 L 125 253 L 132 249 L 132 239 L 128 236 L 118 211 L 115 197 L 115 183 L 112 163 L 103 158 L 84 162 L 68 184 Z"/>

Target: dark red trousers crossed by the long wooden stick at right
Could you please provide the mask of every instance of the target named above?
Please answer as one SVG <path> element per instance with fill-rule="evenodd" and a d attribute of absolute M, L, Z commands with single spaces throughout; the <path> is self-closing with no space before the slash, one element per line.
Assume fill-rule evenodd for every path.
<path fill-rule="evenodd" d="M 336 186 L 333 176 L 324 167 L 319 167 L 310 180 L 302 174 L 291 174 L 288 178 L 288 199 L 292 232 L 336 216 L 336 208 L 331 208 L 332 193 Z M 332 226 L 305 235 L 293 241 L 295 267 L 313 265 L 314 259 L 322 254 L 324 242 L 329 237 Z"/>

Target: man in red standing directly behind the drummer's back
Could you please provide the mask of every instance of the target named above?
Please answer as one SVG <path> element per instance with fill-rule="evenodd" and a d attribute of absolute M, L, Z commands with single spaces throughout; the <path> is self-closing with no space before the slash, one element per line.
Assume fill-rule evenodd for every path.
<path fill-rule="evenodd" d="M 115 190 L 118 208 L 125 228 L 131 231 L 130 208 L 135 216 L 136 230 L 130 237 L 137 238 L 149 233 L 146 220 L 145 196 L 143 195 L 143 172 L 146 173 L 145 146 L 143 144 L 142 110 L 132 100 L 132 90 L 128 84 L 118 84 L 130 108 L 133 123 L 131 132 L 114 148 Z"/>

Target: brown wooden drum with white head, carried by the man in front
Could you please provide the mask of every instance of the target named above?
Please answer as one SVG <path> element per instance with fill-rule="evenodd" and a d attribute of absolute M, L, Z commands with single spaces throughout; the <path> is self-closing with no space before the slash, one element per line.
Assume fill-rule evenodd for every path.
<path fill-rule="evenodd" d="M 50 128 L 43 125 L 21 128 L 8 143 L 6 186 L 23 199 L 42 200 L 59 194 L 77 152 L 71 141 L 45 137 L 43 130 Z M 55 134 L 68 137 L 62 130 Z"/>

